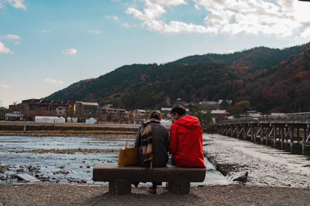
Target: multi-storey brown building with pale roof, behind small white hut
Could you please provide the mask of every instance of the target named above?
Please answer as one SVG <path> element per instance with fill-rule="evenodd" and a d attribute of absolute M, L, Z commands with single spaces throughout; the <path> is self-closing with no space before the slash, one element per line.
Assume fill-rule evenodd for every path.
<path fill-rule="evenodd" d="M 74 112 L 79 119 L 89 119 L 90 117 L 97 117 L 98 108 L 99 104 L 96 102 L 76 101 L 74 104 Z"/>

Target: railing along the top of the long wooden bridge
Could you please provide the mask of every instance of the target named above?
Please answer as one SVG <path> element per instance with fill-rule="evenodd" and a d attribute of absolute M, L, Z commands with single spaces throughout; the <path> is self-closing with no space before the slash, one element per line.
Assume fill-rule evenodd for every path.
<path fill-rule="evenodd" d="M 216 124 L 229 124 L 229 123 L 238 123 L 238 122 L 246 122 L 246 121 L 263 121 L 263 120 L 287 120 L 287 119 L 310 120 L 310 112 L 241 117 L 241 118 L 236 118 L 236 119 L 223 120 L 223 121 L 217 122 Z"/>

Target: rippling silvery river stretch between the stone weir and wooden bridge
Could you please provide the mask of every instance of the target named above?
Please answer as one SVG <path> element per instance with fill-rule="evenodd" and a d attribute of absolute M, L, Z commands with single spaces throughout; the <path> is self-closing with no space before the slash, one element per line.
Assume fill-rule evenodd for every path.
<path fill-rule="evenodd" d="M 310 186 L 309 156 L 217 134 L 203 137 L 209 157 L 216 163 L 233 165 L 229 179 L 247 171 L 249 184 Z"/>

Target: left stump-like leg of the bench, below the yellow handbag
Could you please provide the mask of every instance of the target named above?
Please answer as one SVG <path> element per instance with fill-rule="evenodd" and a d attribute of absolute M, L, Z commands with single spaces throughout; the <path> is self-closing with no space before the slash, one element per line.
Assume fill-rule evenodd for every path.
<path fill-rule="evenodd" d="M 111 195 L 126 195 L 131 193 L 131 182 L 126 179 L 113 179 L 109 181 Z"/>

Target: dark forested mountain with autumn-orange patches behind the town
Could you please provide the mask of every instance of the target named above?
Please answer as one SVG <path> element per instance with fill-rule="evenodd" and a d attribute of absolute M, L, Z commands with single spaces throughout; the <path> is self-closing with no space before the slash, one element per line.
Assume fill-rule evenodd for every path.
<path fill-rule="evenodd" d="M 81 80 L 46 97 L 136 109 L 169 107 L 177 98 L 231 99 L 232 111 L 309 111 L 310 43 L 286 49 L 253 48 L 233 54 L 185 57 L 163 65 L 124 65 L 99 78 Z"/>

